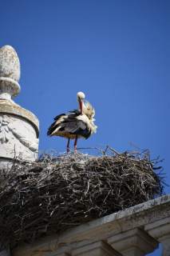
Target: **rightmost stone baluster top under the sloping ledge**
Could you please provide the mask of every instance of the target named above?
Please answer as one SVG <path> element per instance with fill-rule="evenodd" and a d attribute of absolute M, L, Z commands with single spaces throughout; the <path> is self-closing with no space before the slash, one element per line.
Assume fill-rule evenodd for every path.
<path fill-rule="evenodd" d="M 163 218 L 144 227 L 163 246 L 163 256 L 170 256 L 170 218 Z"/>

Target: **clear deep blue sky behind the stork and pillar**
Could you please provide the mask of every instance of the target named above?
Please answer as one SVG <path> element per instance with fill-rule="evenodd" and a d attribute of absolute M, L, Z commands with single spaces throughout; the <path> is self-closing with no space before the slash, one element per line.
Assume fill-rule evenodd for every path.
<path fill-rule="evenodd" d="M 78 146 L 149 149 L 165 159 L 170 183 L 170 1 L 6 0 L 0 22 L 1 46 L 14 46 L 21 60 L 16 102 L 38 116 L 41 151 L 65 150 L 65 139 L 46 130 L 77 107 L 81 90 L 98 131 Z"/>

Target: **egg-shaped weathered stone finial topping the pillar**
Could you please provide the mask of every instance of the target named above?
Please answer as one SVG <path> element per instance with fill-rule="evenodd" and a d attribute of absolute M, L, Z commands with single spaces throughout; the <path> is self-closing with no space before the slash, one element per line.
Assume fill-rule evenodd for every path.
<path fill-rule="evenodd" d="M 12 46 L 0 48 L 0 99 L 11 99 L 20 92 L 20 62 Z"/>

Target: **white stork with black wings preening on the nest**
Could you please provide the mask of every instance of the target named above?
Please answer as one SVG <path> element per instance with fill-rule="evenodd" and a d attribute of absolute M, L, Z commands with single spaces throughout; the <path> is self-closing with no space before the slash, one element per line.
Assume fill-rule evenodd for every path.
<path fill-rule="evenodd" d="M 95 110 L 93 106 L 86 102 L 85 94 L 82 92 L 77 93 L 77 102 L 79 103 L 79 110 L 69 111 L 68 114 L 59 114 L 54 118 L 54 122 L 49 126 L 47 135 L 61 136 L 68 138 L 67 153 L 69 153 L 69 141 L 74 141 L 74 151 L 77 151 L 77 139 L 89 138 L 93 133 L 96 133 L 97 126 L 94 125 L 93 118 Z"/>

